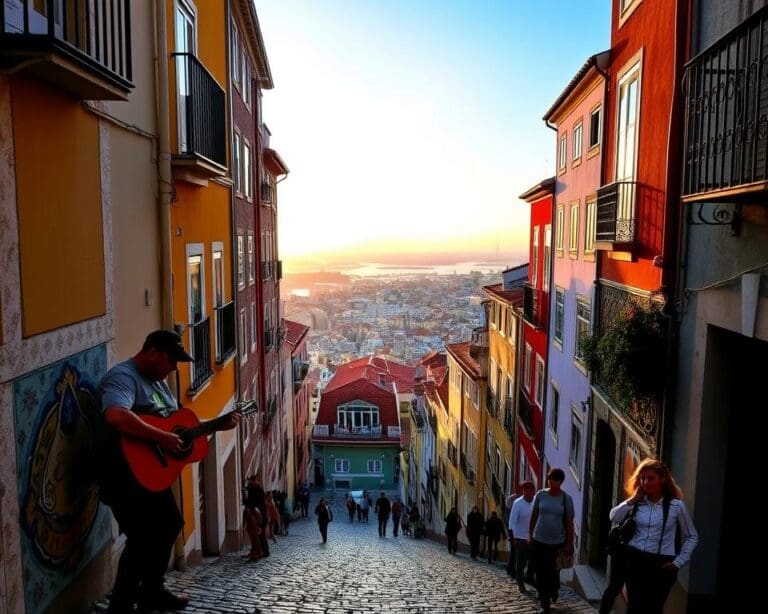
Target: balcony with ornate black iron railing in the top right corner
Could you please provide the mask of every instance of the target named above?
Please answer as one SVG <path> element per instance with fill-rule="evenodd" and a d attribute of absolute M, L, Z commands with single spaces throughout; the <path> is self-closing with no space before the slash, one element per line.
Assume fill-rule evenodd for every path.
<path fill-rule="evenodd" d="M 767 22 L 763 8 L 685 66 L 683 200 L 765 201 Z"/>

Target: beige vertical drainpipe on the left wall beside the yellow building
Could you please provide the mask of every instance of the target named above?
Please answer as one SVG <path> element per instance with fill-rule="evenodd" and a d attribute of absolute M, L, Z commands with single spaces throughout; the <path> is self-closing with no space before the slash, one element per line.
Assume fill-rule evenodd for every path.
<path fill-rule="evenodd" d="M 163 328 L 174 328 L 173 318 L 173 255 L 171 251 L 171 195 L 173 178 L 171 176 L 171 128 L 168 109 L 168 39 L 165 18 L 165 0 L 155 0 L 155 92 L 157 94 L 157 174 L 158 174 L 158 209 L 160 213 L 160 270 L 163 292 Z M 178 400 L 179 378 L 171 380 L 171 386 Z M 181 480 L 177 479 L 171 487 L 179 509 L 184 509 Z M 184 570 L 187 561 L 184 555 L 184 535 L 180 531 L 173 544 L 173 566 Z"/>

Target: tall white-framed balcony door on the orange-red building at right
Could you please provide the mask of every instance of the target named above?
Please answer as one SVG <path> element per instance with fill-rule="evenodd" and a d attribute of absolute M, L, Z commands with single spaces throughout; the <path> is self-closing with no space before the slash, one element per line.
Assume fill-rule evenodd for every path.
<path fill-rule="evenodd" d="M 632 183 L 637 173 L 637 124 L 640 109 L 640 63 L 619 79 L 618 130 L 616 132 L 616 181 Z M 617 220 L 633 220 L 634 190 L 619 187 Z"/>

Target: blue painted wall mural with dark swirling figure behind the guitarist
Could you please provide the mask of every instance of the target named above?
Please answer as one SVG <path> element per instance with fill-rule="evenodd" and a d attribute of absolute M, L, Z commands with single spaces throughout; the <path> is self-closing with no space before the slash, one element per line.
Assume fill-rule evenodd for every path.
<path fill-rule="evenodd" d="M 13 383 L 22 565 L 28 612 L 42 611 L 107 543 L 94 478 L 99 346 Z"/>

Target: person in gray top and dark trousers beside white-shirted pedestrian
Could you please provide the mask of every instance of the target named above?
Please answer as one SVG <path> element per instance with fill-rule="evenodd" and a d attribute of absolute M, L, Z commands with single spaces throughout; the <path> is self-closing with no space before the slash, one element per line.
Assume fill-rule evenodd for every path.
<path fill-rule="evenodd" d="M 536 588 L 541 610 L 549 614 L 550 603 L 557 601 L 560 572 L 555 559 L 560 550 L 573 554 L 573 499 L 560 487 L 565 480 L 562 469 L 553 468 L 547 474 L 549 488 L 536 493 L 529 522 L 529 543 L 533 545 L 536 564 Z"/>

